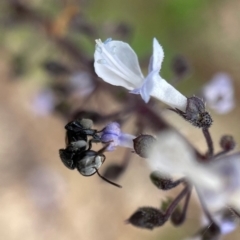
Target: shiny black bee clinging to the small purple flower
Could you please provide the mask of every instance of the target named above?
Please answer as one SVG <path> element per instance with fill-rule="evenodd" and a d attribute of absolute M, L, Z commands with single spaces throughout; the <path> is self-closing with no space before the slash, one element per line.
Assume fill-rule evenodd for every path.
<path fill-rule="evenodd" d="M 110 143 L 106 144 L 99 151 L 92 150 L 92 142 L 101 142 L 98 131 L 91 129 L 92 121 L 90 119 L 81 119 L 68 123 L 65 126 L 66 131 L 66 148 L 59 150 L 60 158 L 63 164 L 74 170 L 75 168 L 83 176 L 92 176 L 98 174 L 108 183 L 121 187 L 101 176 L 98 169 L 104 163 L 106 157 L 103 154 Z M 88 136 L 92 138 L 88 140 Z M 88 145 L 88 148 L 87 148 Z"/>

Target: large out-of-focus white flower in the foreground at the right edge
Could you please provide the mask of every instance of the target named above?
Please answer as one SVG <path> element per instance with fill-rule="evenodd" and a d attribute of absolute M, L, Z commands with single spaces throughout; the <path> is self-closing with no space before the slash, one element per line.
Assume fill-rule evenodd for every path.
<path fill-rule="evenodd" d="M 147 163 L 153 171 L 186 176 L 213 211 L 227 204 L 240 208 L 240 155 L 199 163 L 189 144 L 177 132 L 167 130 L 157 136 Z"/>

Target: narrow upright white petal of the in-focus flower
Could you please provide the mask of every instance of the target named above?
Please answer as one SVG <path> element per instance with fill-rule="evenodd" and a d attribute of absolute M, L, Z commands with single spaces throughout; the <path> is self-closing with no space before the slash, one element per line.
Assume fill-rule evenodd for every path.
<path fill-rule="evenodd" d="M 148 72 L 160 71 L 164 58 L 164 52 L 162 46 L 159 44 L 156 38 L 153 39 L 153 55 L 150 59 Z"/>

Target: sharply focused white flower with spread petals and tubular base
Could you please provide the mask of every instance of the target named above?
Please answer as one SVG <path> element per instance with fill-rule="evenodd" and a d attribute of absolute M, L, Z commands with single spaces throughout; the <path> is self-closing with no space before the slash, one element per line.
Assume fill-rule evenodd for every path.
<path fill-rule="evenodd" d="M 105 82 L 140 94 L 145 102 L 153 96 L 173 108 L 185 111 L 187 98 L 159 75 L 164 53 L 156 38 L 153 39 L 153 55 L 146 78 L 141 72 L 136 53 L 127 43 L 111 39 L 104 43 L 99 39 L 96 43 L 95 72 Z"/>

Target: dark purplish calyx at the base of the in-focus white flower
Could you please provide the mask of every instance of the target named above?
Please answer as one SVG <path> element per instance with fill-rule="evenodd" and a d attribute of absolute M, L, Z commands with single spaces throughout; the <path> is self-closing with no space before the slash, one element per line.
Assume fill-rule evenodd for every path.
<path fill-rule="evenodd" d="M 209 128 L 213 122 L 211 115 L 205 110 L 205 104 L 203 100 L 198 97 L 190 97 L 187 99 L 185 113 L 179 109 L 170 108 L 170 110 L 178 113 L 195 127 L 206 129 Z"/>

